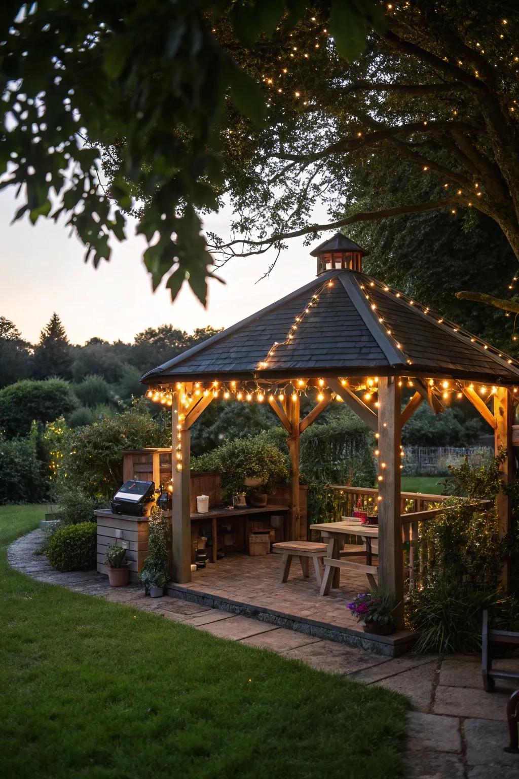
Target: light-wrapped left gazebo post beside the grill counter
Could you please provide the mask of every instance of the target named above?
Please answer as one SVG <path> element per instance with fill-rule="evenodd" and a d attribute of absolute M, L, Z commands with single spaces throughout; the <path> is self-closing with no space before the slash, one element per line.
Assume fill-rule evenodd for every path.
<path fill-rule="evenodd" d="M 191 581 L 191 509 L 189 495 L 191 432 L 189 428 L 184 428 L 184 406 L 181 400 L 183 395 L 184 385 L 177 386 L 173 413 L 171 414 L 173 580 L 181 584 Z"/>

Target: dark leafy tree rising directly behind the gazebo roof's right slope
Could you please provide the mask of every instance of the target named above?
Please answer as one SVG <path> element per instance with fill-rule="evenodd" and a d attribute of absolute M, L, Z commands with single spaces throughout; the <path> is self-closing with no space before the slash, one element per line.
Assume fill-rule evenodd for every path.
<path fill-rule="evenodd" d="M 424 199 L 440 197 L 443 189 L 413 169 L 405 157 L 397 156 L 394 160 L 373 158 L 349 178 L 349 191 L 373 206 L 388 198 L 398 201 L 405 187 Z M 370 250 L 363 259 L 366 273 L 514 354 L 510 316 L 503 319 L 496 308 L 481 309 L 453 294 L 469 287 L 500 295 L 507 288 L 517 259 L 495 221 L 475 210 L 456 217 L 437 210 L 352 224 L 347 233 Z"/>

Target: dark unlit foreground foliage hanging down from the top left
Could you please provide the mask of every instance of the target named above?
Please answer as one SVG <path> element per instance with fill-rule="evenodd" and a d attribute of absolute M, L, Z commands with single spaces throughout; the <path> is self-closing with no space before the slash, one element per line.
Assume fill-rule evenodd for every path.
<path fill-rule="evenodd" d="M 374 0 L 325 2 L 338 48 L 354 58 L 366 30 L 384 28 Z M 288 31 L 304 0 L 5 0 L 0 9 L 6 112 L 2 186 L 20 188 L 29 213 L 64 217 L 94 266 L 109 238 L 124 240 L 132 209 L 148 241 L 144 260 L 172 298 L 184 280 L 205 303 L 212 263 L 199 213 L 217 210 L 227 108 L 265 118 L 258 80 L 234 49 Z M 230 45 L 220 26 L 232 30 Z M 225 134 L 226 130 L 224 131 Z M 100 149 L 103 148 L 103 182 Z M 52 203 L 57 193 L 57 204 Z M 135 210 L 135 197 L 144 203 Z M 158 239 L 156 237 L 158 236 Z M 173 236 L 173 238 L 172 238 Z"/>

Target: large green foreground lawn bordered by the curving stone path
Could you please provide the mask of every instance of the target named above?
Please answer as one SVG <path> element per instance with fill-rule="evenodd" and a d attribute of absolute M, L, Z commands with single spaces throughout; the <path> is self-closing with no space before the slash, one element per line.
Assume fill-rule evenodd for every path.
<path fill-rule="evenodd" d="M 403 775 L 396 693 L 9 569 L 43 513 L 0 507 L 2 779 Z"/>

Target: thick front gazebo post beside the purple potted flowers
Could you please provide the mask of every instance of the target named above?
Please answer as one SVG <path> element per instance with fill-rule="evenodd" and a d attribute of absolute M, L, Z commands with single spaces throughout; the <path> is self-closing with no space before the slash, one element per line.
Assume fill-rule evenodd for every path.
<path fill-rule="evenodd" d="M 404 622 L 404 571 L 400 516 L 401 390 L 398 377 L 378 380 L 378 573 L 379 587 L 395 596 L 397 628 Z"/>

